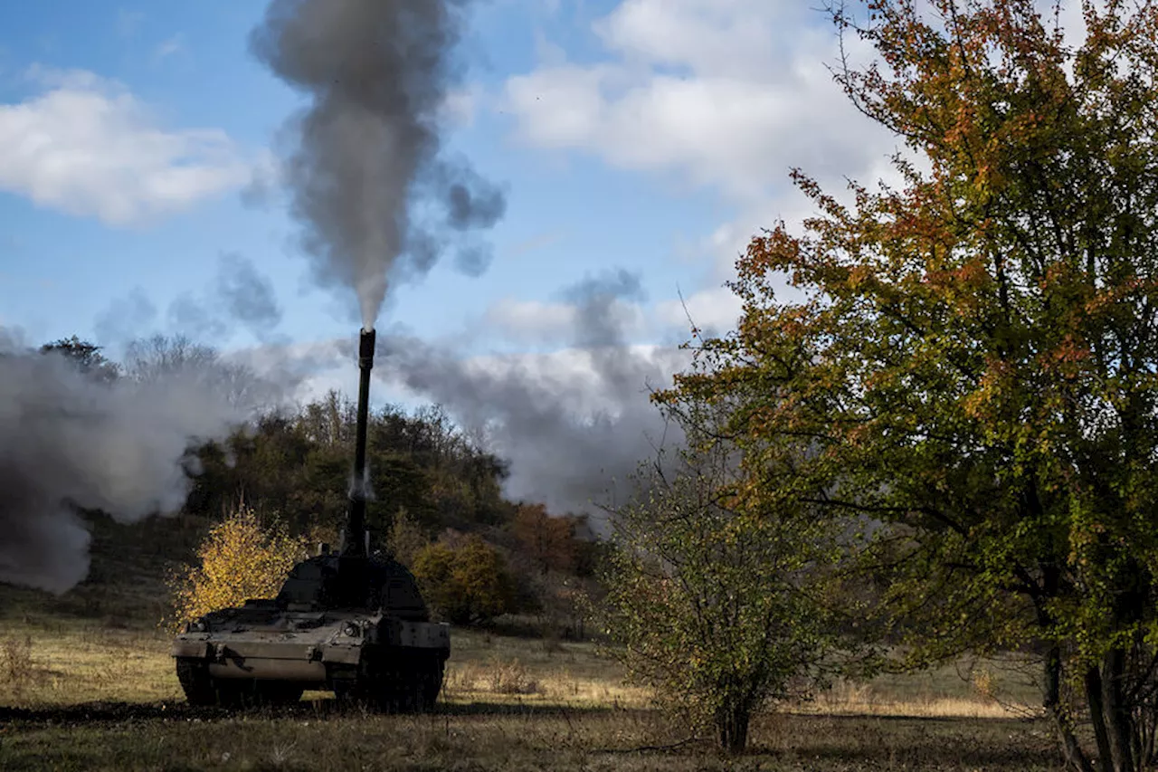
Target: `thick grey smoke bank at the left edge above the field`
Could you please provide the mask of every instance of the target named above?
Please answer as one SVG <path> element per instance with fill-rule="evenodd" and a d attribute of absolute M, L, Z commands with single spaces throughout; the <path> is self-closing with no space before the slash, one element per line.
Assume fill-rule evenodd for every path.
<path fill-rule="evenodd" d="M 258 395 L 242 374 L 204 350 L 146 345 L 129 377 L 98 383 L 0 328 L 0 582 L 64 592 L 83 580 L 75 508 L 122 523 L 179 509 L 186 449 L 226 436 Z"/>

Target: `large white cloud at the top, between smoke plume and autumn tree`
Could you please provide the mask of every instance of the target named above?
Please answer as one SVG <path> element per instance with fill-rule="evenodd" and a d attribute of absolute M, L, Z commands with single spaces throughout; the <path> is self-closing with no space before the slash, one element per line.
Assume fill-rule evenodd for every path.
<path fill-rule="evenodd" d="M 807 3 L 623 0 L 594 31 L 610 59 L 507 81 L 525 141 L 675 172 L 746 204 L 793 166 L 856 176 L 896 145 L 833 82 L 835 32 Z"/>

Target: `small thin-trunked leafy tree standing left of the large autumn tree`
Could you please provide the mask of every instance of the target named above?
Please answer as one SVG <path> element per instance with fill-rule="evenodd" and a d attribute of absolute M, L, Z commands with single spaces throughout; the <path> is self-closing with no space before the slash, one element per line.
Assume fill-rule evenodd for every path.
<path fill-rule="evenodd" d="M 739 752 L 756 712 L 809 694 L 834 667 L 835 533 L 801 510 L 754 510 L 734 449 L 689 440 L 676 463 L 643 465 L 638 495 L 611 511 L 607 622 L 632 680 Z"/>

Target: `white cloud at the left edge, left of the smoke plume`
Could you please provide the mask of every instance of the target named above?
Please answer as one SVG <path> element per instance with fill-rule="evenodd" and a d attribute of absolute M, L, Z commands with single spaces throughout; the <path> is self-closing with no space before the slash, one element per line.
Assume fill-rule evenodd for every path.
<path fill-rule="evenodd" d="M 0 190 L 125 226 L 251 176 L 223 131 L 161 128 L 124 87 L 90 72 L 34 67 L 29 75 L 42 90 L 0 104 Z"/>

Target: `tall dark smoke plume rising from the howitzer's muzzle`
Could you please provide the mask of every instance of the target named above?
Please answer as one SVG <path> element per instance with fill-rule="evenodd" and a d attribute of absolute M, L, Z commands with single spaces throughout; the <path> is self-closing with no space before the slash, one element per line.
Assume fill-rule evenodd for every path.
<path fill-rule="evenodd" d="M 447 252 L 485 269 L 469 231 L 504 213 L 501 190 L 439 156 L 440 111 L 470 0 L 273 0 L 255 56 L 310 97 L 283 165 L 316 279 L 354 290 L 374 327 L 389 282 Z M 466 253 L 466 256 L 462 256 Z"/>

